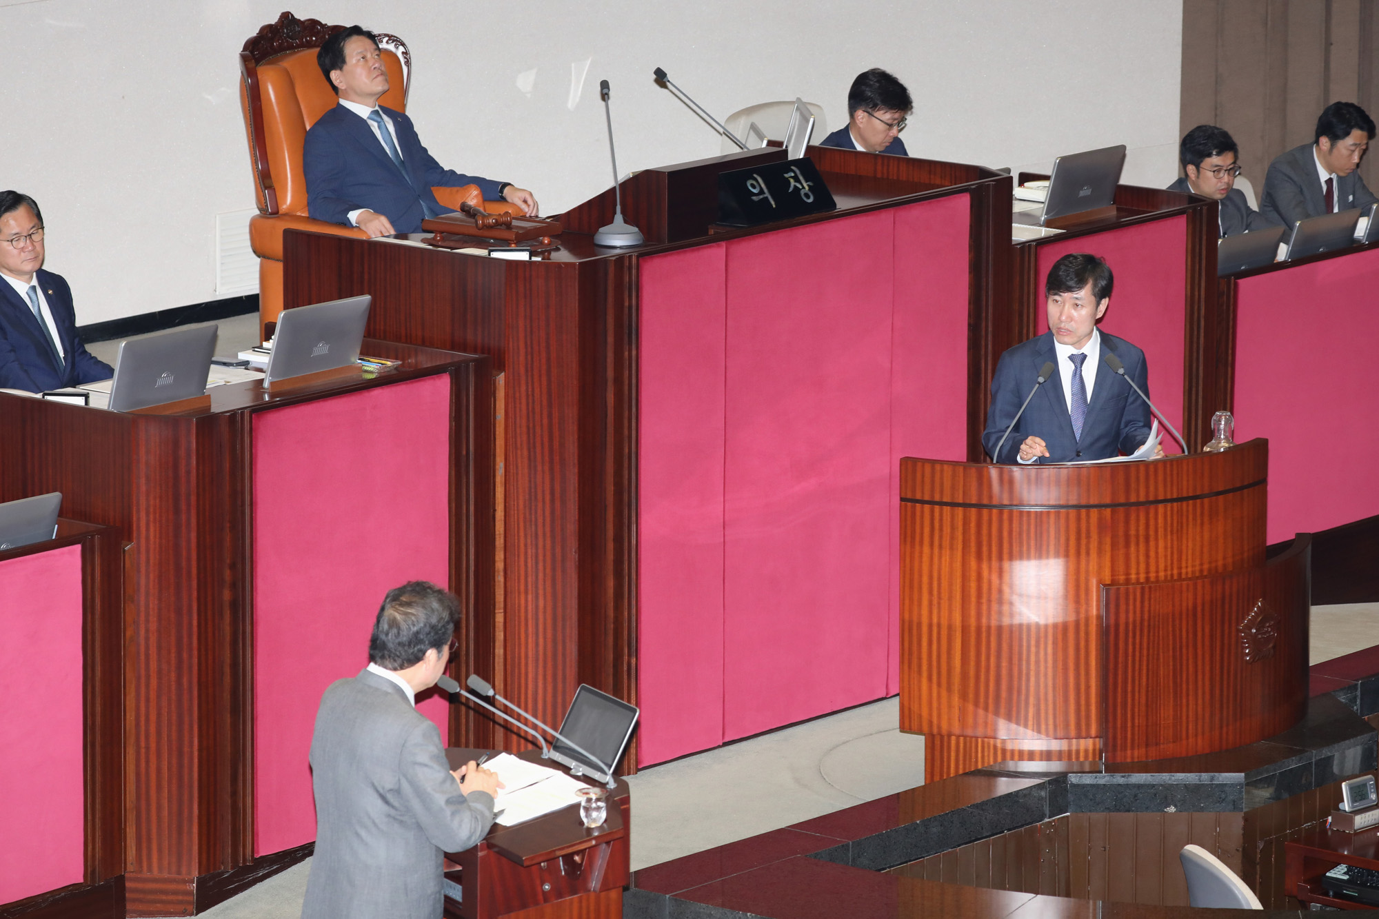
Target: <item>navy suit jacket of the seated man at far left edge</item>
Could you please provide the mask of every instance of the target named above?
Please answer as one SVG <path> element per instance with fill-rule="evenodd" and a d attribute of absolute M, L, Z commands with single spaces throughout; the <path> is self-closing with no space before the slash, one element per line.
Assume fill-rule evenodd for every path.
<path fill-rule="evenodd" d="M 29 301 L 14 287 L 0 280 L 0 386 L 44 392 L 77 386 L 114 375 L 110 364 L 97 359 L 77 338 L 76 310 L 72 309 L 72 288 L 59 275 L 41 268 L 33 279 L 48 301 L 48 312 L 62 342 L 63 362 L 52 362 L 52 349 L 43 327 L 29 308 Z"/>

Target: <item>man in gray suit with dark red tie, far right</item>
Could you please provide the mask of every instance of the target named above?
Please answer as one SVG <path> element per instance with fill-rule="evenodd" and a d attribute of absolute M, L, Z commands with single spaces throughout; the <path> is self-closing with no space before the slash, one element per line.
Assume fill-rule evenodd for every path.
<path fill-rule="evenodd" d="M 1300 219 L 1369 207 L 1375 196 L 1356 172 L 1375 135 L 1375 123 L 1354 102 L 1332 102 L 1317 119 L 1316 141 L 1269 164 L 1259 210 L 1292 228 Z"/>

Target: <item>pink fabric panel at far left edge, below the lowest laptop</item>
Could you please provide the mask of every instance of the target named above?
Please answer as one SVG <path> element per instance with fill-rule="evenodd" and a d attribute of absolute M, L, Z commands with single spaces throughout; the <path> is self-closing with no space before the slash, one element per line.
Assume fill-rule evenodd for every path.
<path fill-rule="evenodd" d="M 0 562 L 0 902 L 81 883 L 81 546 Z"/>

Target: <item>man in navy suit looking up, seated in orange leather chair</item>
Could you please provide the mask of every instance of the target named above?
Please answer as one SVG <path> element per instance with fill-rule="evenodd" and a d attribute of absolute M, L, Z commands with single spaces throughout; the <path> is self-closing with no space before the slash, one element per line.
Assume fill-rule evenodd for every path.
<path fill-rule="evenodd" d="M 411 119 L 378 105 L 387 92 L 387 70 L 372 32 L 357 25 L 336 32 L 316 61 L 339 105 L 306 132 L 302 167 L 312 217 L 359 226 L 371 239 L 416 233 L 423 219 L 450 210 L 436 201 L 432 188 L 461 185 L 477 185 L 485 200 L 512 201 L 536 215 L 531 192 L 441 167 Z"/>

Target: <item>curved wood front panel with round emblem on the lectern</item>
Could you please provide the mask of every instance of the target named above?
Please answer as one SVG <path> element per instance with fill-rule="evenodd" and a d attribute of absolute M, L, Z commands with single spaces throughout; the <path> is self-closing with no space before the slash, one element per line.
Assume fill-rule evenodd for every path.
<path fill-rule="evenodd" d="M 1302 719 L 1310 542 L 1229 574 L 1102 588 L 1107 763 L 1242 747 Z"/>

